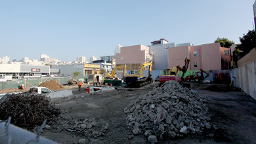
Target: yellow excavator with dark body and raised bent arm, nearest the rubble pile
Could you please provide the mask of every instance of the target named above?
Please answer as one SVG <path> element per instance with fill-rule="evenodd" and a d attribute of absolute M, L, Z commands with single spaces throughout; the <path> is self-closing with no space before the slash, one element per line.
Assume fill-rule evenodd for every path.
<path fill-rule="evenodd" d="M 143 69 L 144 67 L 148 66 L 148 77 L 143 76 Z M 140 64 L 140 67 L 138 69 L 138 72 L 135 74 L 129 74 L 126 75 L 123 79 L 123 81 L 126 82 L 127 87 L 137 87 L 144 86 L 146 84 L 150 84 L 153 82 L 151 77 L 152 72 L 152 61 L 150 62 L 144 62 Z"/>

